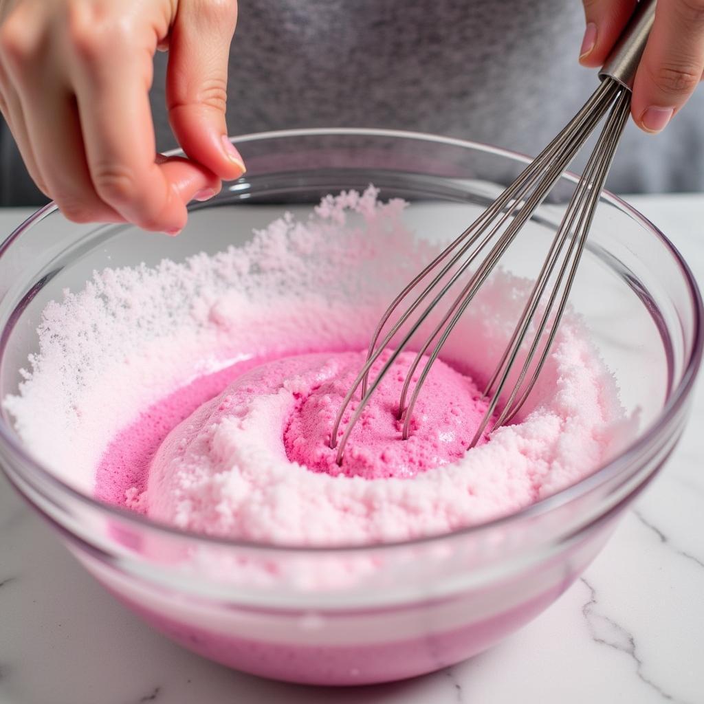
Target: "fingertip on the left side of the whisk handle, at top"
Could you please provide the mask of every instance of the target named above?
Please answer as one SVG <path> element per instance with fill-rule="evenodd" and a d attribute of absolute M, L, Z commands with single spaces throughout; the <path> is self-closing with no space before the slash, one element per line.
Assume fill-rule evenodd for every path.
<path fill-rule="evenodd" d="M 636 0 L 583 0 L 586 29 L 579 62 L 584 66 L 601 66 L 626 26 Z"/>

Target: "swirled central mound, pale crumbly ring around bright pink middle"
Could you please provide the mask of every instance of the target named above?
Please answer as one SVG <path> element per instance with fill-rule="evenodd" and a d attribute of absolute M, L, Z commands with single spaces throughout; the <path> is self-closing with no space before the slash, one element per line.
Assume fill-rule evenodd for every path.
<path fill-rule="evenodd" d="M 332 413 L 364 353 L 258 365 L 161 443 L 144 492 L 147 515 L 205 534 L 332 546 L 413 539 L 512 513 L 584 477 L 608 451 L 609 409 L 601 369 L 588 350 L 578 338 L 558 348 L 558 356 L 579 364 L 564 367 L 553 408 L 538 408 L 467 451 L 463 444 L 484 409 L 472 382 L 439 365 L 435 388 L 422 394 L 427 405 L 420 407 L 417 430 L 425 435 L 415 436 L 414 451 L 414 441 L 399 439 L 393 420 L 398 367 L 394 383 L 370 408 L 372 416 L 386 417 L 379 435 L 360 427 L 351 470 L 343 473 L 325 444 Z M 401 365 L 410 358 L 404 355 Z M 332 393 L 321 394 L 324 387 Z M 450 401 L 463 396 L 456 425 Z M 310 399 L 320 406 L 318 418 Z M 458 432 L 443 444 L 448 422 Z"/>

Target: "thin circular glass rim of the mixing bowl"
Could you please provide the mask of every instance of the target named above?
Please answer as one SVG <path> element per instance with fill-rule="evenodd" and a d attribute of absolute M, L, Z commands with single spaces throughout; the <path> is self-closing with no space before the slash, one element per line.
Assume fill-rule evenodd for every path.
<path fill-rule="evenodd" d="M 520 152 L 512 151 L 510 149 L 504 149 L 503 147 L 493 146 L 490 144 L 483 144 L 482 142 L 474 142 L 469 139 L 458 139 L 456 137 L 444 137 L 439 134 L 430 134 L 426 132 L 413 132 L 406 130 L 379 130 L 374 128 L 357 128 L 357 127 L 321 127 L 321 128 L 305 128 L 296 130 L 272 130 L 268 132 L 250 132 L 247 134 L 236 135 L 234 137 L 229 137 L 230 141 L 234 144 L 246 144 L 247 142 L 256 142 L 266 139 L 285 139 L 291 137 L 326 137 L 326 136 L 367 136 L 367 137 L 392 137 L 394 139 L 413 139 L 415 141 L 424 142 L 434 142 L 436 144 L 444 144 L 446 146 L 458 146 L 463 149 L 470 149 L 474 151 L 479 151 L 481 153 L 490 153 L 503 158 L 508 158 L 513 162 L 529 163 L 532 161 L 532 157 L 522 154 Z M 172 149 L 165 153 L 166 156 L 181 156 L 183 151 L 181 149 Z M 565 171 L 561 176 L 561 179 L 565 179 L 571 182 L 577 182 L 579 180 L 579 175 L 571 171 Z M 581 479 L 576 484 L 565 487 L 555 494 L 551 494 L 546 498 L 542 498 L 535 503 L 532 503 L 525 508 L 514 513 L 509 513 L 508 515 L 503 515 L 495 519 L 482 522 L 479 524 L 474 524 L 466 526 L 455 531 L 422 536 L 419 538 L 411 540 L 401 540 L 392 541 L 384 543 L 371 543 L 371 544 L 359 544 L 359 543 L 343 543 L 341 545 L 334 546 L 302 546 L 302 545 L 287 545 L 286 543 L 258 543 L 256 541 L 246 541 L 240 539 L 232 539 L 225 536 L 210 536 L 203 533 L 191 532 L 188 530 L 177 528 L 171 524 L 166 524 L 163 522 L 158 522 L 152 520 L 151 518 L 143 515 L 141 513 L 135 513 L 134 511 L 122 508 L 120 506 L 111 505 L 108 503 L 103 503 L 93 496 L 84 494 L 82 491 L 75 489 L 70 484 L 66 484 L 61 479 L 56 477 L 49 469 L 42 466 L 37 460 L 35 460 L 32 455 L 25 449 L 23 443 L 20 441 L 19 437 L 11 432 L 11 429 L 6 425 L 3 418 L 0 417 L 0 441 L 10 448 L 10 450 L 18 455 L 20 460 L 22 460 L 25 465 L 28 465 L 32 471 L 34 471 L 44 482 L 53 486 L 54 489 L 64 494 L 68 494 L 71 498 L 76 501 L 87 505 L 89 509 L 98 510 L 101 513 L 106 513 L 109 516 L 118 519 L 120 521 L 127 522 L 128 524 L 134 524 L 134 527 L 139 529 L 147 529 L 149 531 L 156 531 L 159 533 L 166 534 L 172 539 L 187 539 L 189 541 L 195 541 L 196 543 L 204 543 L 210 546 L 220 546 L 220 547 L 230 547 L 230 548 L 246 548 L 251 551 L 265 551 L 267 553 L 284 552 L 284 553 L 313 553 L 315 555 L 325 555 L 327 553 L 354 553 L 356 551 L 391 551 L 396 548 L 406 548 L 409 546 L 419 546 L 428 543 L 434 543 L 436 541 L 456 539 L 461 536 L 469 536 L 472 534 L 480 534 L 482 532 L 488 532 L 495 527 L 503 526 L 510 522 L 515 522 L 517 520 L 533 518 L 538 515 L 543 515 L 549 513 L 555 508 L 560 508 L 560 506 L 570 503 L 574 499 L 577 499 L 589 491 L 595 489 L 601 484 L 605 484 L 610 479 L 620 474 L 625 467 L 630 465 L 631 460 L 634 460 L 643 451 L 651 441 L 653 437 L 657 436 L 659 433 L 663 432 L 665 427 L 670 424 L 674 417 L 677 416 L 679 410 L 686 402 L 691 389 L 696 380 L 696 375 L 698 373 L 700 363 L 703 356 L 704 349 L 704 304 L 702 301 L 702 296 L 696 279 L 686 263 L 684 258 L 677 247 L 672 244 L 672 242 L 667 239 L 665 234 L 663 234 L 658 227 L 653 225 L 648 218 L 639 213 L 633 206 L 629 203 L 623 201 L 615 194 L 604 189 L 599 201 L 605 201 L 610 203 L 610 205 L 615 206 L 619 210 L 629 215 L 633 220 L 638 222 L 640 225 L 649 230 L 656 239 L 659 239 L 661 244 L 665 246 L 667 250 L 670 251 L 675 263 L 679 266 L 681 274 L 684 277 L 687 288 L 689 289 L 689 294 L 691 296 L 692 313 L 693 313 L 693 340 L 691 345 L 691 351 L 688 363 L 682 372 L 679 384 L 672 389 L 672 393 L 667 398 L 665 406 L 658 414 L 658 417 L 653 420 L 649 425 L 646 432 L 643 432 L 639 438 L 634 442 L 629 444 L 622 452 L 617 454 L 615 458 L 612 458 L 603 465 L 596 468 L 588 477 Z M 25 231 L 29 230 L 35 223 L 44 220 L 52 213 L 58 211 L 58 206 L 54 201 L 47 203 L 39 210 L 35 211 L 30 215 L 29 218 L 24 220 L 18 227 L 8 234 L 8 237 L 4 241 L 0 241 L 0 258 L 4 255 L 9 246 L 20 237 Z M 11 483 L 15 484 L 9 473 L 2 467 L 4 472 L 8 475 Z M 37 488 L 35 486 L 35 488 Z M 19 488 L 20 493 L 24 494 Z M 33 501 L 31 503 L 34 503 Z M 37 507 L 39 508 L 39 507 Z M 43 512 L 42 512 L 43 513 Z M 549 536 L 551 539 L 556 536 Z"/>

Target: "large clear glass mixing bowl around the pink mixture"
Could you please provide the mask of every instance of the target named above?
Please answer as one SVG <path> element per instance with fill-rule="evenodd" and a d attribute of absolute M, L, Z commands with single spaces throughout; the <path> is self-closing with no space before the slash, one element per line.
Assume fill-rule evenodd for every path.
<path fill-rule="evenodd" d="M 82 287 L 95 269 L 215 252 L 245 241 L 284 209 L 310 208 L 327 193 L 370 182 L 382 199 L 410 202 L 406 217 L 419 232 L 449 236 L 527 161 L 480 144 L 373 130 L 275 132 L 234 142 L 248 172 L 208 203 L 191 204 L 180 237 L 75 225 L 47 206 L 5 239 L 1 397 L 16 393 L 20 367 L 36 351 L 42 308 L 64 287 Z M 573 186 L 572 176 L 562 177 L 509 251 L 506 268 L 536 274 Z M 453 534 L 334 549 L 189 534 L 64 482 L 32 459 L 8 415 L 0 419 L 1 463 L 96 579 L 207 658 L 318 684 L 431 672 L 488 648 L 570 586 L 667 460 L 686 422 L 702 353 L 696 284 L 662 233 L 609 194 L 599 204 L 572 303 L 614 373 L 624 407 L 639 409 L 636 437 L 569 489 Z M 276 578 L 263 581 L 261 570 L 247 565 Z M 311 586 L 301 574 L 331 578 Z"/>

